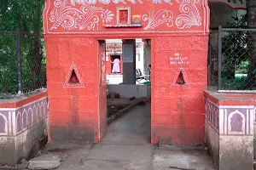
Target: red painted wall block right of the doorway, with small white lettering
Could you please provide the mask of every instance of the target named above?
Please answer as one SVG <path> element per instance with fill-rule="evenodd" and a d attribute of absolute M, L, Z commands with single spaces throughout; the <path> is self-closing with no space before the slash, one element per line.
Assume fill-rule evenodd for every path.
<path fill-rule="evenodd" d="M 178 35 L 153 41 L 152 143 L 203 143 L 208 37 Z"/>

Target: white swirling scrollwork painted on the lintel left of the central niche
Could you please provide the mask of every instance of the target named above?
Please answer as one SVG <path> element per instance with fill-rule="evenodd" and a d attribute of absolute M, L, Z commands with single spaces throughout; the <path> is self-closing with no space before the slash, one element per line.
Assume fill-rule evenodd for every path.
<path fill-rule="evenodd" d="M 108 23 L 113 20 L 113 13 L 108 9 L 96 8 L 92 5 L 82 5 L 74 8 L 67 5 L 67 0 L 55 0 L 54 9 L 50 13 L 49 21 L 53 22 L 51 30 L 62 27 L 65 30 L 95 30 L 98 23 Z"/>

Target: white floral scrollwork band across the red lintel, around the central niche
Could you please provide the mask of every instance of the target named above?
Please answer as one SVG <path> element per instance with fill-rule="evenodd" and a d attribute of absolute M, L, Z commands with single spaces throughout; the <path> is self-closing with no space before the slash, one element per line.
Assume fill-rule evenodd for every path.
<path fill-rule="evenodd" d="M 151 3 L 177 3 L 179 10 L 174 14 L 170 9 L 149 10 L 148 14 L 142 14 L 142 31 L 103 31 L 105 27 L 119 27 L 114 23 L 118 14 L 113 14 L 105 7 L 96 7 L 94 4 L 103 3 L 145 3 L 143 0 L 55 0 L 53 9 L 49 12 L 49 32 L 55 33 L 58 28 L 68 32 L 84 31 L 90 34 L 96 33 L 129 33 L 129 32 L 154 32 L 158 27 L 165 25 L 166 30 L 159 32 L 202 32 L 191 31 L 191 27 L 202 25 L 201 4 L 206 0 L 148 0 Z M 205 26 L 205 21 L 204 21 Z M 126 27 L 134 27 L 127 25 Z M 175 30 L 171 30 L 170 28 Z M 206 30 L 204 30 L 205 32 Z M 61 33 L 65 33 L 61 31 Z"/>

